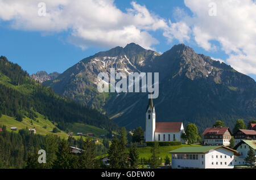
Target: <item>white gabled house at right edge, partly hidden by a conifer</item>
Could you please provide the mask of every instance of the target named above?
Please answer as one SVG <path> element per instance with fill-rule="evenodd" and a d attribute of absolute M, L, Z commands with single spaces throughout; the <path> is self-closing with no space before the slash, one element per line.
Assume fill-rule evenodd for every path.
<path fill-rule="evenodd" d="M 234 149 L 240 152 L 239 157 L 234 157 L 234 165 L 246 165 L 245 158 L 250 148 L 254 149 L 256 155 L 256 140 L 241 140 L 241 142 L 234 147 Z"/>

